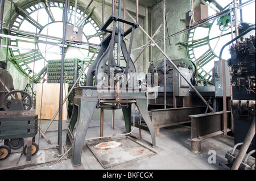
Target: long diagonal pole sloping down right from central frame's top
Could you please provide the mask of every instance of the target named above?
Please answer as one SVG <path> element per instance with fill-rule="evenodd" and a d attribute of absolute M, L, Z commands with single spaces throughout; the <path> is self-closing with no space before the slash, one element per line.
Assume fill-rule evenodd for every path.
<path fill-rule="evenodd" d="M 131 16 L 128 11 L 126 11 L 126 12 L 127 12 L 127 14 L 130 16 L 130 18 L 134 20 L 133 16 Z M 199 98 L 200 98 L 201 100 L 203 100 L 204 104 L 207 106 L 207 105 L 208 105 L 208 102 L 203 98 L 203 96 L 199 93 L 199 91 L 196 90 L 195 86 L 193 86 L 193 85 L 191 84 L 191 82 L 189 82 L 188 79 L 181 73 L 181 71 L 179 70 L 179 68 L 177 68 L 177 66 L 174 64 L 174 62 L 171 61 L 171 58 L 169 58 L 169 57 L 167 56 L 167 54 L 163 52 L 163 50 L 158 46 L 158 44 L 155 43 L 155 41 L 148 35 L 148 33 L 147 33 L 141 26 L 139 26 L 139 28 L 141 28 L 141 30 L 148 36 L 148 38 L 152 41 L 152 43 L 154 43 L 155 46 L 160 50 L 160 52 L 164 54 L 164 56 L 167 58 L 167 60 L 170 61 L 170 63 L 172 64 L 172 66 L 174 66 L 174 68 L 179 72 L 179 74 L 181 75 L 181 77 L 183 77 L 183 78 L 185 79 L 185 81 L 188 83 L 188 85 L 191 86 L 191 88 L 196 92 L 196 94 L 199 96 Z M 209 109 L 210 109 L 211 112 L 215 112 L 215 111 L 213 110 L 213 108 L 210 107 L 210 106 L 209 106 Z"/>

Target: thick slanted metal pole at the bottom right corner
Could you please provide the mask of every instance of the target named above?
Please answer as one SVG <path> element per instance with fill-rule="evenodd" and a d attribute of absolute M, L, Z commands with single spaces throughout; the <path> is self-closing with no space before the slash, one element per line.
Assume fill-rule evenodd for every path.
<path fill-rule="evenodd" d="M 243 145 L 237 155 L 236 161 L 234 161 L 234 164 L 233 164 L 231 170 L 238 170 L 238 168 L 243 160 L 243 157 L 245 157 L 246 151 L 248 150 L 248 148 L 251 144 L 251 141 L 253 140 L 254 135 L 255 135 L 255 117 L 254 117 L 253 123 L 251 124 L 251 127 L 245 137 L 245 141 L 243 141 Z"/>

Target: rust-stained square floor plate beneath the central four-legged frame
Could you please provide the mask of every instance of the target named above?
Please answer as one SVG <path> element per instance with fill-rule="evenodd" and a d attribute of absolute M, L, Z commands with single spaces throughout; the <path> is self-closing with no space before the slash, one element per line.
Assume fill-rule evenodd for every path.
<path fill-rule="evenodd" d="M 105 169 L 156 153 L 128 137 L 89 142 L 86 145 Z"/>

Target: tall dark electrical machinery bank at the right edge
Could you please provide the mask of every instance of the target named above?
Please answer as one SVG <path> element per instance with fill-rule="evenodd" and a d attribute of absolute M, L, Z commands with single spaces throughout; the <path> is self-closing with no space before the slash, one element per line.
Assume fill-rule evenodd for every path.
<path fill-rule="evenodd" d="M 255 28 L 254 28 L 255 30 Z M 246 38 L 230 48 L 228 60 L 232 68 L 233 100 L 230 101 L 234 116 L 234 148 L 226 153 L 230 167 L 238 157 L 243 144 L 248 145 L 240 169 L 255 170 L 255 36 Z M 253 127 L 254 133 L 250 132 Z M 247 141 L 247 134 L 254 136 Z"/>

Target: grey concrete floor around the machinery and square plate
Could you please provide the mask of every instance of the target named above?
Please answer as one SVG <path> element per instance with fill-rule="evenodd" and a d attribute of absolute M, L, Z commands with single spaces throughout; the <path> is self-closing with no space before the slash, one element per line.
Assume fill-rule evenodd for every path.
<path fill-rule="evenodd" d="M 44 131 L 49 121 L 40 121 L 40 127 Z M 100 136 L 100 121 L 92 120 L 86 134 L 86 141 L 82 150 L 81 166 L 73 167 L 71 158 L 68 154 L 64 157 L 58 157 L 57 150 L 57 121 L 53 121 L 51 127 L 46 132 L 46 136 L 51 140 L 49 144 L 46 139 L 36 135 L 36 143 L 39 143 L 38 154 L 32 156 L 31 163 L 26 162 L 26 156 L 21 154 L 22 149 L 12 150 L 11 155 L 0 161 L 0 169 L 30 169 L 30 170 L 224 170 L 227 163 L 225 154 L 228 150 L 232 150 L 234 140 L 232 137 L 223 135 L 215 136 L 201 141 L 201 153 L 191 152 L 191 141 L 188 140 L 191 136 L 191 128 L 185 125 L 177 125 L 174 127 L 161 128 L 160 134 L 156 137 L 156 146 L 152 148 L 148 142 L 151 142 L 150 133 L 142 130 L 142 139 L 139 137 L 139 129 L 135 128 L 130 137 L 131 140 L 143 145 L 145 148 L 152 150 L 155 154 L 149 157 L 135 159 L 120 165 L 104 169 L 96 156 L 86 145 L 93 137 Z M 65 148 L 66 129 L 68 121 L 63 123 L 63 150 L 62 154 L 68 148 Z M 120 134 L 125 131 L 125 124 L 122 120 L 115 120 L 115 129 L 111 129 L 112 121 L 104 120 L 104 136 Z M 133 128 L 133 127 L 132 127 Z M 125 137 L 125 136 L 121 136 Z M 116 137 L 112 137 L 116 138 Z M 25 139 L 26 143 L 26 139 Z M 0 145 L 3 144 L 3 141 Z M 216 163 L 213 161 L 212 152 L 216 153 Z M 208 154 L 209 153 L 209 154 Z M 43 159 L 45 158 L 45 159 Z M 60 159 L 61 158 L 61 159 Z M 60 160 L 59 160 L 60 159 Z M 45 161 L 45 163 L 44 163 Z M 43 163 L 40 163 L 43 162 Z"/>

